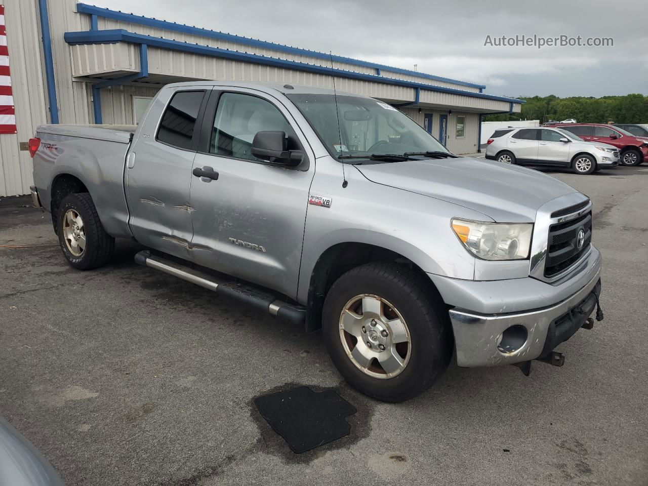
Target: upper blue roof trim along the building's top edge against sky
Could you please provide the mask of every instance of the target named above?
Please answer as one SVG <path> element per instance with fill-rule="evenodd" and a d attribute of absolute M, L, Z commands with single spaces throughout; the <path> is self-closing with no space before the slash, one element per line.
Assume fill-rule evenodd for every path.
<path fill-rule="evenodd" d="M 156 29 L 165 29 L 165 30 L 175 30 L 176 32 L 183 32 L 185 34 L 192 34 L 194 36 L 203 36 L 211 37 L 213 39 L 238 42 L 242 44 L 253 45 L 255 47 L 262 47 L 263 49 L 274 49 L 275 51 L 288 52 L 290 54 L 299 54 L 301 56 L 310 56 L 319 59 L 330 60 L 332 57 L 333 60 L 337 62 L 345 62 L 347 64 L 353 64 L 363 67 L 370 67 L 372 69 L 384 69 L 385 71 L 391 71 L 393 73 L 399 73 L 402 75 L 418 76 L 420 78 L 427 78 L 435 81 L 443 81 L 452 84 L 458 84 L 460 86 L 476 87 L 479 89 L 485 89 L 486 86 L 483 84 L 469 83 L 466 81 L 459 81 L 450 78 L 443 78 L 442 76 L 428 75 L 425 73 L 419 73 L 417 71 L 410 71 L 410 69 L 401 69 L 400 67 L 391 67 L 384 64 L 376 64 L 373 62 L 361 61 L 353 58 L 345 58 L 343 56 L 330 56 L 326 52 L 318 51 L 309 51 L 308 49 L 301 49 L 299 47 L 290 47 L 288 45 L 277 44 L 274 42 L 267 42 L 258 39 L 251 39 L 244 36 L 235 36 L 234 34 L 226 34 L 224 32 L 218 32 L 217 30 L 201 29 L 200 27 L 192 27 L 191 25 L 184 25 L 175 22 L 167 22 L 165 20 L 158 20 L 152 17 L 143 17 L 134 14 L 125 14 L 124 12 L 117 12 L 116 10 L 110 10 L 109 8 L 102 8 L 94 5 L 87 5 L 86 3 L 77 3 L 76 11 L 80 14 L 89 14 L 96 15 L 98 17 L 104 17 L 107 19 L 119 20 L 122 22 L 137 23 L 140 25 L 146 25 L 148 27 L 155 27 Z"/>

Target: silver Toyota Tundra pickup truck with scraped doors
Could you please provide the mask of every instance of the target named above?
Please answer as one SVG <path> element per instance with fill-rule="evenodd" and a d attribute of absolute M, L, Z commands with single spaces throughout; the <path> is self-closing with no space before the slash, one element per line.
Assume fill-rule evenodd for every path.
<path fill-rule="evenodd" d="M 330 89 L 185 82 L 138 127 L 43 125 L 34 201 L 69 263 L 139 264 L 321 329 L 380 400 L 531 360 L 591 329 L 592 204 L 539 172 L 448 152 L 389 104 Z M 143 273 L 143 278 L 147 274 Z"/>

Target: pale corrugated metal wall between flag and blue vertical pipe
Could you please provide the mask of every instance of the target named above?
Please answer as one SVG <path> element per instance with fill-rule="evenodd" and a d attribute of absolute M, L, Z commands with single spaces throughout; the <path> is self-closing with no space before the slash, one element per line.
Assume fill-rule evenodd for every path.
<path fill-rule="evenodd" d="M 4 0 L 7 46 L 18 133 L 0 135 L 0 196 L 28 194 L 32 159 L 20 142 L 47 121 L 36 0 Z"/>

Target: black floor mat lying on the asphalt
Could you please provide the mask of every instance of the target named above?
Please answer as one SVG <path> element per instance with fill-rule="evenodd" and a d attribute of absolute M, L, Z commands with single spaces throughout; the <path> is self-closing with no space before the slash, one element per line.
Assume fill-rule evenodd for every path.
<path fill-rule="evenodd" d="M 264 395 L 254 403 L 295 454 L 349 435 L 345 417 L 357 411 L 333 390 L 316 393 L 305 386 Z"/>

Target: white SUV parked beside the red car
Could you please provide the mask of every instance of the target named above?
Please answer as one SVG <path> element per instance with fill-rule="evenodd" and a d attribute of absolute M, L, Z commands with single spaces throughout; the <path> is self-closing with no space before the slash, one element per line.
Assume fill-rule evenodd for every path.
<path fill-rule="evenodd" d="M 619 163 L 616 147 L 586 142 L 560 128 L 495 130 L 487 144 L 487 159 L 519 165 L 568 167 L 577 174 L 592 174 Z"/>

